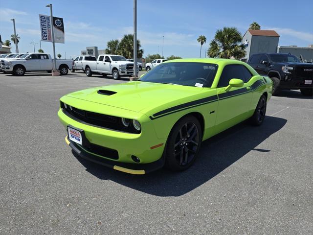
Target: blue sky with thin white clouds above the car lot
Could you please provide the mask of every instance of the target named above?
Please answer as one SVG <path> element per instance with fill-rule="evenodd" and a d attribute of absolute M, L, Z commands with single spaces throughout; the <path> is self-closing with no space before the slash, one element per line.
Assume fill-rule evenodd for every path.
<path fill-rule="evenodd" d="M 70 58 L 89 46 L 104 49 L 109 40 L 133 33 L 133 0 L 0 0 L 2 41 L 13 34 L 10 19 L 15 18 L 20 51 L 33 51 L 33 41 L 38 43 L 37 51 L 38 14 L 49 15 L 48 3 L 53 5 L 54 16 L 65 21 L 66 43 L 56 44 L 62 58 L 65 52 Z M 199 57 L 199 35 L 207 38 L 204 55 L 217 29 L 234 26 L 244 34 L 253 21 L 261 29 L 276 30 L 280 46 L 313 44 L 313 0 L 137 0 L 137 21 L 144 56 L 162 54 L 164 35 L 165 57 Z M 52 52 L 51 43 L 42 43 L 42 48 Z"/>

